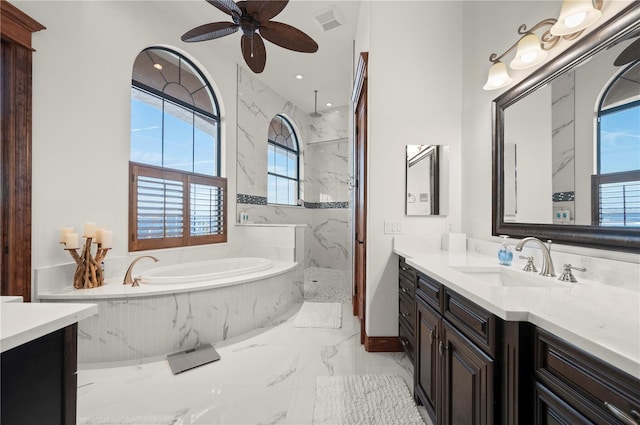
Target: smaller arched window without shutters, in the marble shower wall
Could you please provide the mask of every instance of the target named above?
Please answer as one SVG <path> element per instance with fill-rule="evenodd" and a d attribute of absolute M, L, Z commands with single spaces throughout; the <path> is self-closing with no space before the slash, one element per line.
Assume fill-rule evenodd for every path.
<path fill-rule="evenodd" d="M 293 126 L 282 115 L 269 124 L 267 202 L 297 205 L 300 197 L 300 150 Z"/>

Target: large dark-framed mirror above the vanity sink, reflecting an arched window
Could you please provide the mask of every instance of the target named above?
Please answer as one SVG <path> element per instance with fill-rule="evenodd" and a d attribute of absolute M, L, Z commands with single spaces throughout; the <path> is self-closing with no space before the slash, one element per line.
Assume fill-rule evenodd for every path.
<path fill-rule="evenodd" d="M 633 2 L 493 101 L 494 235 L 640 251 L 639 38 Z"/>

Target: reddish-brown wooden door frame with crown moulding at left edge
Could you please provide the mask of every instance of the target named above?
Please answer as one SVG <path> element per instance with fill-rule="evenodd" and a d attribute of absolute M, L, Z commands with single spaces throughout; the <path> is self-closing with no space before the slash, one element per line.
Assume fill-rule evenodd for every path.
<path fill-rule="evenodd" d="M 1 294 L 31 301 L 31 35 L 45 27 L 5 0 L 0 6 Z"/>

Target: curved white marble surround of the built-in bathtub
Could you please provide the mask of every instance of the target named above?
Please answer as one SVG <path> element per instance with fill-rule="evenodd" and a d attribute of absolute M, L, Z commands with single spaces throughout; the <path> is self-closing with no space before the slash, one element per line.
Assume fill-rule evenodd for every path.
<path fill-rule="evenodd" d="M 293 278 L 295 266 L 288 263 L 279 274 L 232 286 L 130 287 L 115 282 L 42 298 L 50 303 L 73 299 L 98 305 L 98 314 L 78 326 L 79 363 L 140 363 L 224 341 L 278 319 L 302 302 L 302 286 Z M 112 293 L 106 293 L 110 287 Z"/>

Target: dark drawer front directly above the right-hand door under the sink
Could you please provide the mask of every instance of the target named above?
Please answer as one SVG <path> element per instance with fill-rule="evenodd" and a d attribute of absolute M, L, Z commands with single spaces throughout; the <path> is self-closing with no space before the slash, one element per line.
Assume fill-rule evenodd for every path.
<path fill-rule="evenodd" d="M 444 316 L 487 354 L 496 357 L 496 318 L 493 314 L 447 289 Z"/>

